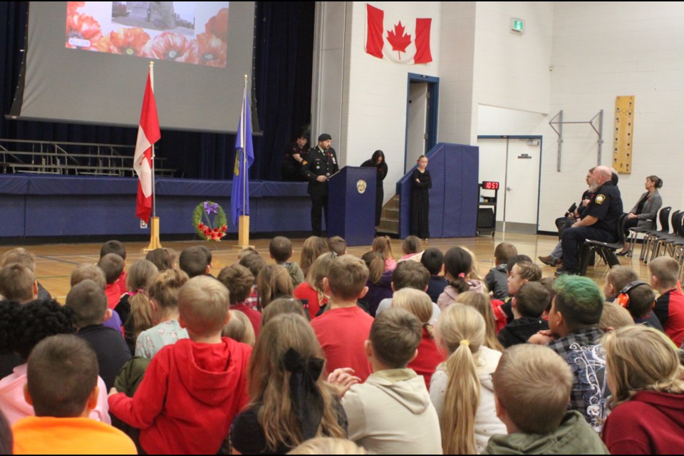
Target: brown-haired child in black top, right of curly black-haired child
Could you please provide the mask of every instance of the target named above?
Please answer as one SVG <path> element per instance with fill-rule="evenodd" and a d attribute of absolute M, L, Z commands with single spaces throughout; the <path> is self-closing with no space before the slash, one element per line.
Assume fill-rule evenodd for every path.
<path fill-rule="evenodd" d="M 113 312 L 107 308 L 105 292 L 92 280 L 82 281 L 71 287 L 66 295 L 66 306 L 73 310 L 73 324 L 78 329 L 76 336 L 93 348 L 98 357 L 100 377 L 107 388 L 112 388 L 114 378 L 131 353 L 121 332 L 103 325 Z"/>

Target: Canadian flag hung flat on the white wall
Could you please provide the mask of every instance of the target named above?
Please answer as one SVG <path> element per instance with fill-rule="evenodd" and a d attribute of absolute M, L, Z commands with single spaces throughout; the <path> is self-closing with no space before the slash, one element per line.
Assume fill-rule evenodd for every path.
<path fill-rule="evenodd" d="M 366 4 L 366 52 L 395 63 L 429 63 L 432 19 L 393 16 Z"/>

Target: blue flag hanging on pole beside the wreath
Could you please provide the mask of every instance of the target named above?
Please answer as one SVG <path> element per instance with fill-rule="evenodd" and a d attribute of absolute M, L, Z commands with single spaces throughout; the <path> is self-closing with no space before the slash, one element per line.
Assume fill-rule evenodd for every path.
<path fill-rule="evenodd" d="M 245 86 L 242 95 L 242 113 L 235 139 L 233 189 L 230 194 L 230 214 L 236 227 L 241 215 L 249 215 L 249 167 L 253 162 L 252 119 L 249 115 L 249 100 L 247 100 L 247 86 Z"/>

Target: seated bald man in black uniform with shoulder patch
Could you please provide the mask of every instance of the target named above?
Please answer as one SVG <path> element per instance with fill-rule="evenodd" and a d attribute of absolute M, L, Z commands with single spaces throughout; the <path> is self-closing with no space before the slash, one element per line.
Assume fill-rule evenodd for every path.
<path fill-rule="evenodd" d="M 563 232 L 564 266 L 556 270 L 556 275 L 577 274 L 579 272 L 579 250 L 585 239 L 602 242 L 615 242 L 618 219 L 623 213 L 620 190 L 613 185 L 612 172 L 607 166 L 597 166 L 591 175 L 596 185 L 596 195 L 584 211 L 584 218 L 574 222 Z"/>

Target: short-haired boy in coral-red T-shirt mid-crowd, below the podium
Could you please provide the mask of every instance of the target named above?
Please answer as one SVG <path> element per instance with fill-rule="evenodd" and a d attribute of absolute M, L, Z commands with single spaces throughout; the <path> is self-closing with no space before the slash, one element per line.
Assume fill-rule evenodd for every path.
<path fill-rule="evenodd" d="M 371 365 L 363 347 L 371 333 L 373 317 L 356 305 L 368 291 L 368 268 L 363 260 L 339 257 L 323 279 L 323 291 L 330 298 L 329 309 L 311 320 L 316 338 L 326 354 L 326 369 L 352 368 L 354 375 L 366 380 Z"/>

